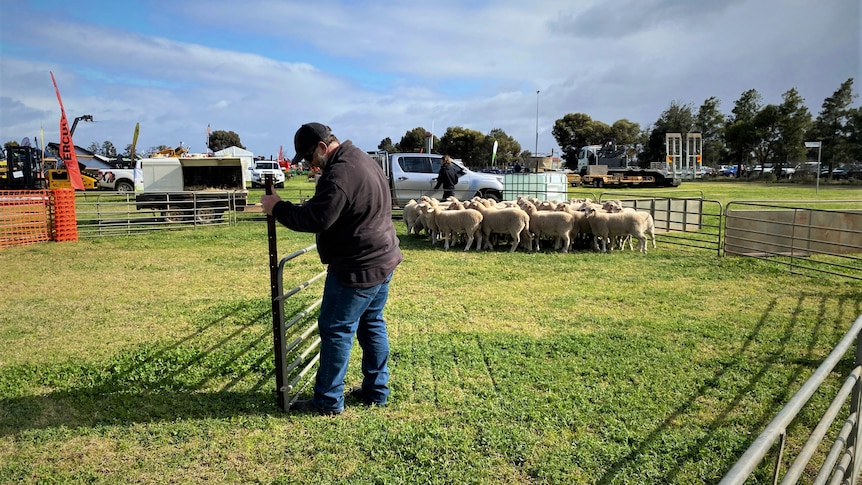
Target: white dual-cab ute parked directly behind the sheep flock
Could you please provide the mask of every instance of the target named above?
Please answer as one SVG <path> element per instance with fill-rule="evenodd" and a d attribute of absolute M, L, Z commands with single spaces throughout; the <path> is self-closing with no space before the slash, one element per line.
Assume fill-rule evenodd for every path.
<path fill-rule="evenodd" d="M 372 158 L 380 162 L 383 172 L 389 178 L 392 203 L 404 207 L 411 199 L 418 200 L 427 195 L 440 199 L 443 189 L 434 189 L 443 155 L 435 153 L 386 153 L 371 152 Z M 458 160 L 454 161 L 458 172 L 455 197 L 468 200 L 474 196 L 503 200 L 503 177 L 474 172 Z"/>

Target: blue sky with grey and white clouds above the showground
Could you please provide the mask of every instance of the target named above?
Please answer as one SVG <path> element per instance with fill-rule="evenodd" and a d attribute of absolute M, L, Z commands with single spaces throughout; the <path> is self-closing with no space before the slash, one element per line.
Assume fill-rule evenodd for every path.
<path fill-rule="evenodd" d="M 95 120 L 83 147 L 122 151 L 139 122 L 139 152 L 202 152 L 210 125 L 292 155 L 320 121 L 366 150 L 461 126 L 559 154 L 567 113 L 646 127 L 671 102 L 727 114 L 796 88 L 816 115 L 848 78 L 862 92 L 860 17 L 858 0 L 0 0 L 0 143 L 58 141 L 53 72 L 70 123 Z"/>

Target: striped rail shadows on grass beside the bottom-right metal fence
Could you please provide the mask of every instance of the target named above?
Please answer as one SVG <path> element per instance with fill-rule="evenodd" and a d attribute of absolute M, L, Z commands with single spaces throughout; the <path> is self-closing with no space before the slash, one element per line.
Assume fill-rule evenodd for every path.
<path fill-rule="evenodd" d="M 796 329 L 795 322 L 802 312 L 803 303 L 808 298 L 817 298 L 820 300 L 818 310 L 819 323 L 811 332 L 806 355 L 791 356 L 787 354 L 787 345 L 792 340 L 793 332 Z M 778 408 L 776 408 L 774 412 L 770 411 L 769 413 L 764 413 L 761 416 L 758 416 L 750 423 L 749 431 L 751 433 L 751 439 L 756 437 L 758 433 L 766 427 L 767 424 L 769 424 L 775 414 L 778 413 L 778 409 L 793 397 L 796 390 L 802 386 L 810 373 L 820 365 L 822 359 L 825 357 L 814 354 L 817 342 L 827 340 L 837 343 L 847 330 L 842 327 L 842 325 L 847 322 L 852 323 L 853 318 L 855 318 L 851 318 L 850 314 L 855 315 L 859 313 L 859 302 L 850 301 L 848 298 L 839 298 L 837 302 L 839 305 L 839 318 L 836 319 L 834 321 L 834 325 L 829 328 L 826 326 L 827 306 L 833 302 L 835 302 L 834 297 L 830 298 L 828 296 L 821 295 L 798 296 L 796 308 L 791 314 L 791 321 L 781 322 L 784 325 L 784 333 L 780 336 L 776 351 L 771 355 L 763 356 L 758 360 L 758 362 L 760 362 L 760 368 L 757 369 L 751 378 L 748 379 L 744 387 L 738 389 L 733 398 L 728 401 L 722 409 L 717 410 L 715 413 L 716 417 L 707 425 L 709 433 L 704 434 L 702 438 L 694 442 L 692 446 L 689 446 L 686 452 L 682 452 L 678 456 L 676 466 L 668 470 L 668 473 L 663 477 L 662 481 L 664 483 L 676 483 L 678 475 L 683 471 L 687 464 L 703 460 L 703 451 L 709 447 L 709 441 L 714 439 L 713 434 L 718 430 L 725 428 L 729 424 L 731 415 L 742 409 L 741 406 L 743 406 L 743 400 L 745 397 L 750 395 L 750 393 L 752 393 L 756 387 L 764 381 L 774 378 L 771 377 L 774 367 L 779 365 L 780 362 L 786 361 L 789 362 L 789 364 L 786 365 L 794 366 L 794 370 L 791 375 L 786 376 L 781 393 L 774 397 L 774 402 L 778 403 Z M 764 328 L 766 328 L 770 323 L 773 323 L 772 320 L 775 318 L 773 312 L 778 303 L 779 298 L 773 299 L 769 306 L 764 309 L 757 325 L 751 329 L 748 335 L 746 335 L 739 350 L 734 355 L 723 358 L 722 366 L 717 368 L 713 375 L 705 379 L 703 385 L 700 386 L 695 393 L 678 406 L 672 414 L 670 414 L 659 426 L 650 432 L 649 435 L 647 435 L 647 437 L 638 446 L 635 446 L 630 453 L 610 465 L 608 467 L 608 470 L 610 471 L 600 477 L 596 483 L 615 483 L 618 475 L 623 473 L 628 467 L 637 466 L 637 462 L 640 459 L 648 456 L 649 453 L 655 451 L 656 448 L 660 448 L 662 444 L 662 435 L 665 430 L 672 428 L 673 423 L 678 422 L 679 420 L 684 419 L 686 415 L 689 415 L 692 412 L 692 409 L 696 407 L 698 399 L 710 394 L 711 389 L 720 387 L 725 374 L 732 372 L 738 363 L 746 360 L 746 354 L 750 352 L 753 343 L 763 337 L 762 333 Z M 854 313 L 854 311 L 856 313 Z M 842 316 L 846 316 L 846 319 L 842 319 Z M 850 372 L 851 368 L 852 362 L 842 362 L 836 370 L 840 371 L 842 375 L 845 375 Z M 742 455 L 742 453 L 748 448 L 748 445 L 748 442 L 739 444 L 734 457 L 732 457 L 730 462 L 727 463 L 725 467 L 726 470 L 730 469 L 736 461 L 736 458 Z"/>

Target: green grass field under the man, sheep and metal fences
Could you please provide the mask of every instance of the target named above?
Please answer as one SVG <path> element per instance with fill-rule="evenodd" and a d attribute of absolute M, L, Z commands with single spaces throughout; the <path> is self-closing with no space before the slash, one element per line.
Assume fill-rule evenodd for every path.
<path fill-rule="evenodd" d="M 714 483 L 862 314 L 858 282 L 660 236 L 647 255 L 464 253 L 396 227 L 390 405 L 335 418 L 276 407 L 264 223 L 3 250 L 0 483 Z M 312 242 L 279 228 L 282 255 Z"/>

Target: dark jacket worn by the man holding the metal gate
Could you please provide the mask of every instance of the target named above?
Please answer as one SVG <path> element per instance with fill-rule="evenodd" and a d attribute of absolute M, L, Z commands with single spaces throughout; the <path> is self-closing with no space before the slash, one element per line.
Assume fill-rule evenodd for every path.
<path fill-rule="evenodd" d="M 314 197 L 281 201 L 272 213 L 289 229 L 316 233 L 320 261 L 345 286 L 380 284 L 402 260 L 386 176 L 349 140 L 331 154 Z"/>

